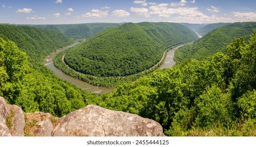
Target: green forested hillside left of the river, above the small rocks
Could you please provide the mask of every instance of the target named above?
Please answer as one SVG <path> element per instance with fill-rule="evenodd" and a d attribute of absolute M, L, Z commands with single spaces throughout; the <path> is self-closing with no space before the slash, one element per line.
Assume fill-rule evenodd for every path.
<path fill-rule="evenodd" d="M 8 103 L 25 112 L 64 116 L 84 107 L 86 99 L 96 97 L 60 80 L 43 65 L 48 54 L 74 40 L 56 30 L 13 25 L 0 25 L 0 37 L 0 96 Z"/>

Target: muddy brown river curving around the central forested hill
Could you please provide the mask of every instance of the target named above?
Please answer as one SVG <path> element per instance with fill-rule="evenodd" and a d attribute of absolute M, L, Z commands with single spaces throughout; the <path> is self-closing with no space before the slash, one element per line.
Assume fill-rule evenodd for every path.
<path fill-rule="evenodd" d="M 87 82 L 81 81 L 77 78 L 73 78 L 73 77 L 65 74 L 64 72 L 62 72 L 62 70 L 60 70 L 60 69 L 58 69 L 54 66 L 53 59 L 58 53 L 66 50 L 70 47 L 73 47 L 77 44 L 79 44 L 78 41 L 76 43 L 72 44 L 72 45 L 60 48 L 57 51 L 55 51 L 54 53 L 50 54 L 49 56 L 46 57 L 46 59 L 44 61 L 44 65 L 47 66 L 50 70 L 52 70 L 60 79 L 67 80 L 71 83 L 74 83 L 75 85 L 79 86 L 80 88 L 83 88 L 83 89 L 88 90 L 90 92 L 99 93 L 99 94 L 106 93 L 106 92 L 112 92 L 115 88 L 97 87 L 97 86 L 90 85 Z M 170 49 L 168 51 L 165 62 L 159 67 L 160 69 L 170 68 L 173 65 L 175 65 L 175 61 L 173 60 L 173 56 L 174 56 L 175 50 L 178 49 L 181 46 L 184 46 L 184 45 L 177 46 L 177 47 L 175 47 L 173 49 Z"/>

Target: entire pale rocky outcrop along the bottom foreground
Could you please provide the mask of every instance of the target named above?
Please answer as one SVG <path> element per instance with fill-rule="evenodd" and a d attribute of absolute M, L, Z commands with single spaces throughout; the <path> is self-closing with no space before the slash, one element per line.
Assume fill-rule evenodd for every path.
<path fill-rule="evenodd" d="M 62 118 L 55 118 L 43 112 L 24 113 L 18 106 L 8 105 L 4 98 L 0 97 L 0 136 L 24 135 L 36 137 L 165 136 L 158 122 L 136 114 L 88 105 Z"/>

